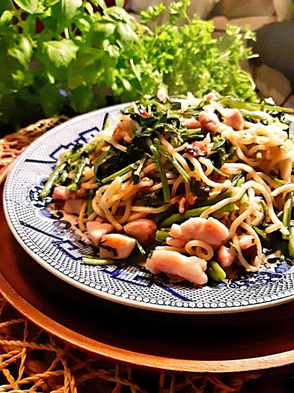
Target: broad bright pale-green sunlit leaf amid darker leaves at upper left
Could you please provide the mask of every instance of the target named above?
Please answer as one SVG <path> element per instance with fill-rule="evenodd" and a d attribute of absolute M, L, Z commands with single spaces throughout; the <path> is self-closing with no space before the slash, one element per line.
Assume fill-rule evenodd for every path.
<path fill-rule="evenodd" d="M 60 41 L 43 42 L 43 51 L 56 67 L 67 67 L 75 58 L 78 46 L 73 40 L 62 39 Z"/>

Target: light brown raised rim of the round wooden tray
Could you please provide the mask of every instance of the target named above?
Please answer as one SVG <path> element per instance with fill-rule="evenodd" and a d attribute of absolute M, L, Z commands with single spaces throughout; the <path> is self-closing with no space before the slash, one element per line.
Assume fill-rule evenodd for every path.
<path fill-rule="evenodd" d="M 34 307 L 27 299 L 23 298 L 17 290 L 0 273 L 0 293 L 22 315 L 35 323 L 41 329 L 70 343 L 78 349 L 88 353 L 98 354 L 107 359 L 136 365 L 140 368 L 151 370 L 168 370 L 193 373 L 232 373 L 245 371 L 258 371 L 283 367 L 293 364 L 294 350 L 253 358 L 229 360 L 190 360 L 178 359 L 160 355 L 145 354 L 142 352 L 128 351 L 120 347 L 103 343 L 56 322 L 51 317 Z M 83 338 L 81 344 L 80 338 Z"/>

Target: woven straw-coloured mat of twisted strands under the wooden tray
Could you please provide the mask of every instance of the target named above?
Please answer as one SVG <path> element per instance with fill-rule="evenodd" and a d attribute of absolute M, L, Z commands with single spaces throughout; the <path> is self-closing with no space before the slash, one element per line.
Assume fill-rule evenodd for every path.
<path fill-rule="evenodd" d="M 66 120 L 65 116 L 41 120 L 0 139 L 0 183 L 11 163 L 29 143 Z M 11 393 L 286 391 L 280 378 L 269 382 L 260 372 L 223 375 L 158 373 L 93 358 L 41 331 L 1 297 L 0 371 L 0 392 Z M 277 390 L 272 390 L 273 386 Z"/>

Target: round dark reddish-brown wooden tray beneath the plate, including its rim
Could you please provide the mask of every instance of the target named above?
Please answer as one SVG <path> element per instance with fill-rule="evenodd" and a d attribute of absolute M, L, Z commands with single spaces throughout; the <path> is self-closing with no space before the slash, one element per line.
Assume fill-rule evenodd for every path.
<path fill-rule="evenodd" d="M 0 228 L 0 292 L 36 325 L 80 349 L 139 367 L 191 372 L 293 362 L 294 303 L 205 316 L 134 309 L 78 290 L 42 268 L 11 234 L 2 201 Z"/>

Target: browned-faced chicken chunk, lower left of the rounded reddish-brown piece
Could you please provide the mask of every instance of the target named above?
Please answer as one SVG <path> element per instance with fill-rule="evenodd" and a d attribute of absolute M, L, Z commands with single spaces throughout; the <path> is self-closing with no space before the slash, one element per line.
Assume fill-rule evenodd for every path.
<path fill-rule="evenodd" d="M 114 252 L 109 249 L 100 247 L 100 258 L 102 259 L 125 259 L 130 256 L 132 250 L 136 246 L 136 240 L 131 237 L 120 235 L 118 233 L 109 233 L 102 236 L 101 243 L 103 247 L 111 247 Z"/>

